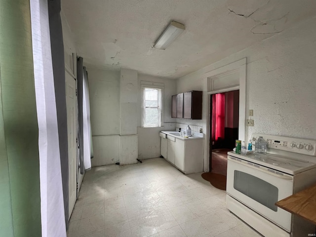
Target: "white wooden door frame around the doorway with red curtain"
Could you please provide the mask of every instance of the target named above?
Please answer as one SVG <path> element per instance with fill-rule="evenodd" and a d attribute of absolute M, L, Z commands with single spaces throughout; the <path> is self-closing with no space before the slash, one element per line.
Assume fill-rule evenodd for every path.
<path fill-rule="evenodd" d="M 248 136 L 246 131 L 246 58 L 240 59 L 231 64 L 225 65 L 213 71 L 207 72 L 204 74 L 204 79 L 206 80 L 206 94 L 207 94 L 207 105 L 206 105 L 206 139 L 205 139 L 205 148 L 204 154 L 204 172 L 209 172 L 210 165 L 210 95 L 228 92 L 232 90 L 239 90 L 239 122 L 238 122 L 238 139 L 245 141 L 245 138 Z M 213 79 L 218 78 L 230 73 L 238 73 L 239 79 L 238 83 L 232 83 L 229 86 L 222 88 L 216 88 L 213 86 Z"/>

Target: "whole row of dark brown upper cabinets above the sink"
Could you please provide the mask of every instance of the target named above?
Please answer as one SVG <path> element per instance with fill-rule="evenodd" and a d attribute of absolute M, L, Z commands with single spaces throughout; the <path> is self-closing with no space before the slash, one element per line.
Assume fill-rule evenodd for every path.
<path fill-rule="evenodd" d="M 171 104 L 171 118 L 202 119 L 202 91 L 173 95 Z"/>

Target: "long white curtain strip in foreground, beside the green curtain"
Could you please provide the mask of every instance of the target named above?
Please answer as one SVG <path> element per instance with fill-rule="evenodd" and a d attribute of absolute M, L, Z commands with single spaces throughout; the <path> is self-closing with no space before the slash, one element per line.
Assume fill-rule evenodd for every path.
<path fill-rule="evenodd" d="M 42 237 L 66 237 L 47 0 L 30 0 L 39 123 Z"/>

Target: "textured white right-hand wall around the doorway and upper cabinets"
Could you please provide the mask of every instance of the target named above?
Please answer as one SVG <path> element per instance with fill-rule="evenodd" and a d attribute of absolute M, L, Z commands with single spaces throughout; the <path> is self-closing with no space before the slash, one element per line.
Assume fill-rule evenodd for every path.
<path fill-rule="evenodd" d="M 247 58 L 246 111 L 253 109 L 253 132 L 315 139 L 316 17 L 177 80 L 177 93 L 203 90 L 203 119 L 177 122 L 206 127 L 203 75 Z M 206 154 L 204 154 L 206 159 Z M 207 170 L 208 167 L 204 167 Z"/>

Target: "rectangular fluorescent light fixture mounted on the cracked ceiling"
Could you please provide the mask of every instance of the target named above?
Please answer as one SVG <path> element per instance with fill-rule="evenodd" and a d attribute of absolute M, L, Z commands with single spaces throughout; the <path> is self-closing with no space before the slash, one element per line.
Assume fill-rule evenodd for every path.
<path fill-rule="evenodd" d="M 171 21 L 168 27 L 156 41 L 154 47 L 158 49 L 166 49 L 168 45 L 175 40 L 184 30 L 185 26 L 179 22 Z"/>

